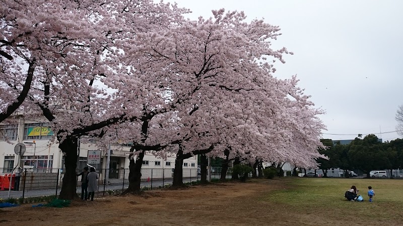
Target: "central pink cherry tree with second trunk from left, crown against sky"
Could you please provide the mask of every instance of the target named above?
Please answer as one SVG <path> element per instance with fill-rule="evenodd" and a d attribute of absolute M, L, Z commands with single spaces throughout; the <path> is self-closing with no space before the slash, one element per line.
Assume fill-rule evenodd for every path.
<path fill-rule="evenodd" d="M 267 41 L 267 39 L 276 38 L 276 32 L 279 29 L 264 24 L 262 21 L 253 21 L 250 24 L 245 23 L 243 22 L 245 16 L 242 13 L 231 12 L 225 14 L 223 10 L 214 11 L 213 13 L 215 20 L 204 20 L 200 18 L 197 22 L 183 22 L 176 28 L 173 27 L 169 31 L 164 31 L 164 39 L 158 39 L 158 37 L 161 37 L 161 35 L 158 34 L 149 36 L 151 37 L 149 38 L 149 49 L 136 50 L 136 52 L 133 53 L 130 52 L 130 55 L 145 53 L 147 59 L 153 59 L 152 63 L 153 65 L 157 65 L 157 68 L 160 68 L 160 66 L 158 66 L 159 63 L 161 63 L 162 68 L 168 67 L 164 76 L 169 75 L 170 77 L 165 79 L 165 83 L 164 81 L 154 81 L 154 84 L 150 84 L 147 81 L 142 81 L 142 83 L 154 85 L 154 89 L 158 90 L 157 93 L 159 94 L 164 93 L 161 88 L 166 87 L 165 92 L 169 93 L 169 99 L 165 100 L 167 104 L 162 102 L 155 104 L 154 108 L 151 108 L 153 110 L 149 110 L 152 114 L 147 112 L 146 107 L 144 108 L 144 114 L 150 117 L 140 123 L 142 138 L 133 141 L 136 145 L 133 146 L 131 151 L 134 152 L 136 150 L 137 157 L 136 159 L 130 159 L 130 175 L 133 176 L 131 177 L 129 175 L 128 192 L 140 190 L 140 169 L 144 152 L 151 151 L 156 147 L 165 147 L 167 143 L 172 141 L 178 142 L 176 138 L 171 138 L 171 141 L 162 143 L 164 145 L 152 144 L 153 142 L 151 141 L 156 141 L 157 139 L 151 134 L 162 135 L 162 133 L 165 133 L 162 127 L 154 126 L 153 119 L 156 115 L 165 114 L 172 110 L 177 112 L 177 117 L 181 120 L 180 125 L 178 125 L 178 128 L 181 128 L 179 129 L 178 136 L 179 134 L 186 135 L 181 138 L 180 146 L 177 149 L 178 160 L 183 160 L 181 157 L 182 154 L 206 150 L 213 145 L 212 142 L 202 142 L 205 144 L 205 147 L 199 148 L 197 144 L 195 144 L 195 142 L 197 143 L 202 140 L 198 134 L 203 134 L 203 130 L 194 132 L 194 137 L 187 137 L 188 133 L 186 133 L 186 131 L 189 131 L 189 125 L 193 124 L 186 123 L 185 119 L 191 115 L 191 112 L 203 112 L 203 114 L 216 116 L 218 114 L 217 106 L 220 106 L 222 111 L 239 111 L 238 115 L 241 117 L 238 117 L 240 119 L 234 117 L 235 122 L 237 120 L 247 121 L 251 119 L 257 121 L 260 116 L 267 114 L 267 112 L 270 112 L 272 115 L 274 115 L 273 112 L 278 112 L 275 117 L 261 117 L 264 119 L 272 119 L 270 125 L 275 127 L 275 129 L 279 127 L 283 128 L 282 125 L 287 124 L 284 123 L 285 117 L 288 116 L 287 112 L 289 112 L 289 114 L 294 113 L 291 110 L 287 110 L 287 107 L 291 108 L 293 104 L 291 102 L 284 102 L 285 99 L 287 99 L 286 95 L 291 95 L 291 88 L 285 84 L 287 82 L 279 81 L 271 76 L 271 72 L 274 71 L 273 65 L 261 63 L 260 61 L 266 60 L 267 56 L 272 56 L 283 61 L 282 53 L 288 53 L 286 49 L 279 51 L 272 50 L 270 48 L 270 42 Z M 134 58 L 140 59 L 141 57 L 143 57 L 143 55 L 136 55 Z M 142 73 L 144 73 L 144 71 L 142 71 Z M 166 81 L 169 81 L 169 83 L 166 83 Z M 288 85 L 293 86 L 293 81 L 294 79 L 288 82 Z M 149 95 L 150 94 L 146 94 L 144 96 Z M 295 94 L 295 96 L 299 99 L 304 99 L 304 97 L 298 96 L 297 94 Z M 152 101 L 155 102 L 156 99 L 160 98 L 161 96 L 154 98 Z M 257 98 L 261 103 L 265 103 L 267 107 L 255 107 L 256 109 L 254 110 L 242 112 L 240 109 L 248 109 L 248 107 L 253 105 L 253 102 L 250 101 L 250 99 L 253 98 Z M 237 100 L 236 106 L 223 104 L 231 102 L 226 100 Z M 152 101 L 148 99 L 147 103 L 151 103 Z M 200 107 L 204 104 L 210 107 L 209 110 L 200 110 Z M 298 102 L 296 104 L 301 103 Z M 199 124 L 212 122 L 211 119 L 207 120 L 209 117 L 205 117 L 203 114 L 191 121 Z M 252 114 L 254 114 L 254 117 L 248 118 L 248 116 Z M 218 118 L 219 117 L 216 119 Z M 259 131 L 260 124 L 254 121 L 251 121 L 251 123 L 234 124 L 238 127 L 238 130 L 242 131 L 239 135 L 236 135 L 236 133 L 222 133 L 223 137 L 221 140 L 225 142 L 218 143 L 220 145 L 215 146 L 217 152 L 222 153 L 226 148 L 231 147 L 234 153 L 238 153 L 238 156 L 248 159 L 252 152 L 245 150 L 251 147 L 254 147 L 254 150 L 259 150 L 260 147 L 264 145 L 267 146 L 267 154 L 265 157 L 270 156 L 276 161 L 286 160 L 287 156 L 289 159 L 294 157 L 293 152 L 288 155 L 283 153 L 284 149 L 291 145 L 291 139 L 289 139 L 291 131 L 281 129 L 278 130 L 278 133 L 272 135 L 271 133 L 274 130 L 270 128 L 272 130 L 266 129 L 263 133 Z M 261 119 L 260 121 L 259 123 L 267 123 L 267 121 Z M 277 122 L 277 124 L 273 122 Z M 279 122 L 283 123 L 280 125 Z M 218 122 L 215 121 L 214 124 L 217 125 Z M 290 124 L 288 127 L 293 125 L 299 126 L 297 122 L 288 124 Z M 158 129 L 151 133 L 153 128 Z M 212 133 L 211 129 L 213 127 L 208 128 L 209 130 L 205 131 Z M 284 128 L 287 127 L 284 126 Z M 320 130 L 320 128 L 318 127 L 316 129 Z M 184 132 L 180 132 L 183 130 Z M 300 132 L 300 130 L 297 130 L 297 132 Z M 214 136 L 210 138 L 212 137 Z M 241 138 L 244 142 L 239 142 L 238 138 Z M 259 140 L 257 138 L 261 139 Z M 266 140 L 276 142 L 266 142 Z M 282 141 L 288 142 L 279 145 Z M 316 144 L 318 141 L 319 139 L 317 138 Z M 186 146 L 186 143 L 190 143 L 190 145 Z M 316 148 L 317 147 L 313 150 L 316 150 Z M 291 150 L 295 151 L 295 149 Z M 311 149 L 307 148 L 305 150 L 310 151 Z M 134 153 L 132 156 L 134 156 Z M 315 153 L 307 156 L 300 155 L 302 158 L 311 158 L 314 156 L 318 155 Z M 298 158 L 295 158 L 295 160 L 298 160 Z M 311 164 L 310 161 L 306 163 Z M 180 175 L 180 173 L 178 173 L 178 175 Z M 133 186 L 130 186 L 131 184 L 133 184 Z"/>

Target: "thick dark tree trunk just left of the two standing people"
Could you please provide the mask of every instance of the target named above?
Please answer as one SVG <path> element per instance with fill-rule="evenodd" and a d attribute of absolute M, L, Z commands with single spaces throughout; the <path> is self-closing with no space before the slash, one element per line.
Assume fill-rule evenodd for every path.
<path fill-rule="evenodd" d="M 59 198 L 70 200 L 74 198 L 79 198 L 76 192 L 78 139 L 75 137 L 66 137 L 62 142 L 60 142 L 59 148 L 63 153 L 65 153 L 64 155 L 65 173 L 61 184 Z"/>

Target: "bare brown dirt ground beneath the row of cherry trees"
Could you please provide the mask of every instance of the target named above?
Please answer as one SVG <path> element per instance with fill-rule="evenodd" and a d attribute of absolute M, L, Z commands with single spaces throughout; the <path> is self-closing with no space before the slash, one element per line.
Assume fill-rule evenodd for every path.
<path fill-rule="evenodd" d="M 285 204 L 267 201 L 268 193 L 285 189 L 286 184 L 287 179 L 259 179 L 147 191 L 141 196 L 101 196 L 94 201 L 74 201 L 65 208 L 33 208 L 25 204 L 0 209 L 0 225 L 346 225 L 349 222 L 309 211 L 298 212 Z"/>

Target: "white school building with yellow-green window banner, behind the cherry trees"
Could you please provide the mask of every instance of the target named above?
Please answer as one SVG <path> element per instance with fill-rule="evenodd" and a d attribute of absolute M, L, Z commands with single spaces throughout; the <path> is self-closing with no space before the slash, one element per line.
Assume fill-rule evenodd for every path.
<path fill-rule="evenodd" d="M 23 115 L 18 115 L 18 119 L 13 125 L 3 122 L 0 125 L 0 174 L 11 173 L 16 166 L 29 169 L 32 172 L 49 172 L 52 169 L 64 168 L 64 156 L 58 148 L 58 144 L 52 141 L 53 132 L 48 127 L 46 120 L 29 120 Z M 22 143 L 26 147 L 25 153 L 19 156 L 15 153 L 17 144 Z M 119 171 L 129 167 L 130 144 L 111 145 L 111 155 L 109 166 L 107 162 L 107 147 L 101 151 L 101 162 L 94 167 L 100 171 L 109 168 L 109 178 L 122 176 Z M 18 149 L 18 148 L 17 148 Z M 80 145 L 80 155 L 78 159 L 78 171 L 87 165 L 88 150 L 97 149 L 94 143 Z M 155 171 L 172 172 L 175 167 L 175 157 L 168 157 L 166 160 L 157 158 L 150 153 L 146 153 L 143 161 L 143 169 L 157 169 Z M 197 156 L 193 156 L 183 161 L 183 169 L 194 169 L 197 171 Z M 167 171 L 168 170 L 168 171 Z M 193 174 L 192 172 L 192 174 Z M 100 172 L 102 174 L 102 172 Z M 128 172 L 127 172 L 128 173 Z M 171 176 L 171 173 L 165 176 Z M 127 177 L 127 175 L 126 175 Z"/>

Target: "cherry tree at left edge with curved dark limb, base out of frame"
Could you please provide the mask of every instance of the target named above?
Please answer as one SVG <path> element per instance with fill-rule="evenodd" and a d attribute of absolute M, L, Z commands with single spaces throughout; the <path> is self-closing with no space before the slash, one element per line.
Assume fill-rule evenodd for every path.
<path fill-rule="evenodd" d="M 68 49 L 61 44 L 68 39 L 65 34 L 75 37 L 83 32 L 77 26 L 85 25 L 80 24 L 79 15 L 75 11 L 69 11 L 69 4 L 69 1 L 53 0 L 46 3 L 2 1 L 0 122 L 10 117 L 24 102 L 33 81 L 41 80 L 37 66 L 44 64 L 49 56 L 62 56 L 63 51 Z"/>

